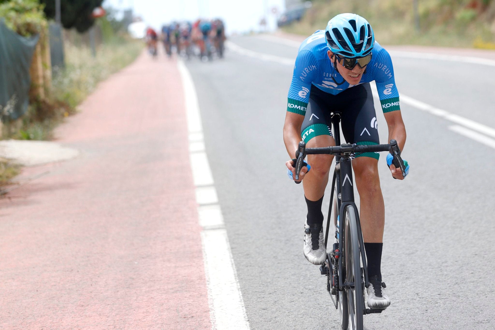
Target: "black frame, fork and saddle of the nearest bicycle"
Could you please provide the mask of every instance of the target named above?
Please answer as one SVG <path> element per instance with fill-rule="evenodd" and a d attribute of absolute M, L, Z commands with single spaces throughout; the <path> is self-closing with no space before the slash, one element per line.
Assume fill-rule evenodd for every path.
<path fill-rule="evenodd" d="M 334 139 L 336 145 L 340 145 L 340 114 L 333 113 L 332 114 L 332 126 L 334 132 Z M 327 240 L 330 228 L 330 216 L 332 214 L 332 206 L 333 206 L 333 194 L 335 190 L 335 185 L 337 184 L 337 208 L 339 210 L 339 251 L 343 251 L 342 238 L 344 237 L 344 227 L 345 227 L 345 209 L 347 205 L 352 205 L 356 210 L 356 221 L 357 221 L 357 229 L 358 229 L 358 237 L 359 237 L 359 250 L 361 254 L 361 260 L 364 269 L 364 284 L 365 287 L 369 286 L 368 282 L 368 270 L 366 267 L 366 254 L 364 250 L 364 242 L 361 231 L 361 223 L 359 221 L 359 212 L 357 212 L 357 206 L 354 202 L 354 182 L 352 180 L 352 165 L 350 154 L 344 154 L 344 156 L 335 156 L 335 173 L 334 179 L 332 180 L 332 193 L 330 199 L 330 206 L 328 210 L 328 219 L 327 219 L 327 230 L 325 233 L 325 248 L 327 247 Z M 333 219 L 332 219 L 333 221 Z M 342 259 L 339 258 L 339 274 L 343 274 L 342 272 Z M 355 275 L 359 276 L 358 274 Z M 342 276 L 339 276 L 339 290 L 345 290 L 345 285 L 342 279 Z"/>

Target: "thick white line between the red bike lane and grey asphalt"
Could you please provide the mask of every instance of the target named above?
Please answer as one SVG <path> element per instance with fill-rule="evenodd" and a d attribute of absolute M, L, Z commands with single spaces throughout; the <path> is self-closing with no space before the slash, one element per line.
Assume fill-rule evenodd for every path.
<path fill-rule="evenodd" d="M 190 149 L 191 169 L 199 205 L 198 219 L 203 227 L 201 243 L 212 329 L 248 330 L 249 323 L 244 300 L 237 280 L 222 211 L 213 186 L 213 175 L 208 158 L 204 151 L 194 151 L 198 148 L 197 142 L 203 141 L 196 89 L 184 62 L 179 61 L 178 67 L 186 98 L 189 141 L 190 147 L 192 146 Z M 213 204 L 201 205 L 210 202 Z"/>

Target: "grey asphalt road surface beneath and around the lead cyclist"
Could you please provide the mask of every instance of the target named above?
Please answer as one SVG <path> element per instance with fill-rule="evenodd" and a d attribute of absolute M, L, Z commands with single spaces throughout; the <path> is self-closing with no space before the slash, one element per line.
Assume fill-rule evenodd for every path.
<path fill-rule="evenodd" d="M 256 37 L 232 42 L 282 57 L 297 53 Z M 495 67 L 393 61 L 399 93 L 495 128 Z M 251 328 L 338 329 L 325 278 L 302 255 L 302 187 L 286 177 L 282 127 L 293 68 L 233 51 L 187 66 Z M 385 143 L 387 125 L 375 105 Z M 393 180 L 384 156 L 379 166 L 382 274 L 392 305 L 365 316 L 365 329 L 494 329 L 495 150 L 450 130 L 443 118 L 404 102 L 401 109 L 410 175 Z"/>

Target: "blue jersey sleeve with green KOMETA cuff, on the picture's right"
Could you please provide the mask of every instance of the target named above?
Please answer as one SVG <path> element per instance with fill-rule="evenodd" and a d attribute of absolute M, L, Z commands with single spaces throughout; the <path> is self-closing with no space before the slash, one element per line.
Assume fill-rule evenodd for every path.
<path fill-rule="evenodd" d="M 400 110 L 399 92 L 394 77 L 394 67 L 389 52 L 382 48 L 373 66 L 376 88 L 384 113 Z"/>

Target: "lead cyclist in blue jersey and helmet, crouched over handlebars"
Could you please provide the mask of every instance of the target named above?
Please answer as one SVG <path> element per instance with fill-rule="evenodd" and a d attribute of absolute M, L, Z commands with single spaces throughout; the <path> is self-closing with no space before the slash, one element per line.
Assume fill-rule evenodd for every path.
<path fill-rule="evenodd" d="M 340 14 L 328 22 L 326 30 L 318 30 L 308 37 L 299 47 L 288 94 L 284 142 L 290 157 L 296 158 L 301 137 L 308 147 L 335 145 L 330 111 L 341 112 L 342 132 L 347 142 L 379 144 L 369 84 L 373 80 L 389 128 L 389 141 L 397 140 L 402 150 L 406 133 L 392 60 L 387 50 L 375 42 L 368 21 L 356 14 Z M 378 153 L 355 155 L 352 167 L 360 197 L 360 220 L 372 284 L 367 289 L 368 306 L 385 309 L 390 299 L 381 274 L 385 207 L 378 157 Z M 321 205 L 332 160 L 332 155 L 308 155 L 310 171 L 303 167 L 300 175 L 307 205 L 303 253 L 316 265 L 326 259 Z M 391 165 L 392 160 L 387 163 L 394 178 L 404 179 L 400 170 Z M 295 178 L 294 159 L 286 165 Z"/>

